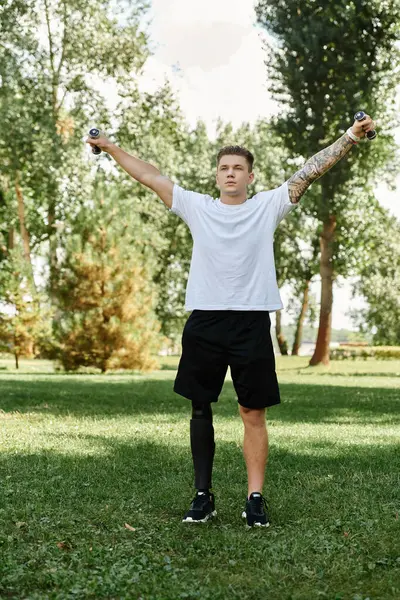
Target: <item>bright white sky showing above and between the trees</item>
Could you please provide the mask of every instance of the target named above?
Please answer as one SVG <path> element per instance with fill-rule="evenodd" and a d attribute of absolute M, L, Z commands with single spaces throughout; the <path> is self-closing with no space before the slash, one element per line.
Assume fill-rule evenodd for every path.
<path fill-rule="evenodd" d="M 268 93 L 265 34 L 255 22 L 253 0 L 152 0 L 148 31 L 153 55 L 142 89 L 153 91 L 168 78 L 189 123 L 204 120 L 211 136 L 218 118 L 235 126 L 269 119 L 279 106 Z M 400 143 L 400 130 L 396 137 Z M 400 187 L 400 177 L 397 183 Z M 380 185 L 376 195 L 400 218 L 398 191 Z M 318 282 L 313 292 L 319 300 Z M 286 304 L 289 291 L 281 293 Z M 347 313 L 364 306 L 363 300 L 352 299 L 351 286 L 343 280 L 335 286 L 334 300 L 333 327 L 354 328 Z M 283 323 L 289 321 L 284 313 Z"/>

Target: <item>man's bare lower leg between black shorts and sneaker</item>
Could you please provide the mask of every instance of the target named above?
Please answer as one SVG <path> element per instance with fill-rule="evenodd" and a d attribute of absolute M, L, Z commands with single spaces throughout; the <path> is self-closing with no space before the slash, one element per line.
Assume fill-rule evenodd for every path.
<path fill-rule="evenodd" d="M 243 454 L 247 467 L 248 496 L 252 492 L 262 494 L 268 458 L 265 408 L 251 409 L 239 406 L 239 410 L 244 424 Z"/>

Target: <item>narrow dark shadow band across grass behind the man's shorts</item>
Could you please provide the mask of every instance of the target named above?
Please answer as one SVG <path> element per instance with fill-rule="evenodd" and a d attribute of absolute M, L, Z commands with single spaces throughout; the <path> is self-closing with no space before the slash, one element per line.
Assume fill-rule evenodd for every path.
<path fill-rule="evenodd" d="M 282 404 L 268 410 L 269 421 L 284 423 L 343 422 L 394 424 L 400 421 L 400 393 L 395 388 L 281 384 Z M 44 413 L 75 417 L 117 415 L 188 415 L 190 402 L 173 392 L 173 381 L 124 381 L 85 378 L 18 378 L 0 381 L 3 412 Z M 215 414 L 237 416 L 236 393 L 226 381 Z M 0 413 L 1 414 L 1 413 Z"/>

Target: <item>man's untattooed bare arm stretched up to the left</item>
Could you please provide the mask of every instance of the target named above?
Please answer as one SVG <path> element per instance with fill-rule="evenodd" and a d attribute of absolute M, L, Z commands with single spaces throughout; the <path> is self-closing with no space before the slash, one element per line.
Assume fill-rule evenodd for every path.
<path fill-rule="evenodd" d="M 156 167 L 128 154 L 128 152 L 110 142 L 104 135 L 100 135 L 95 139 L 89 137 L 86 142 L 92 146 L 98 146 L 104 152 L 108 152 L 128 175 L 153 190 L 164 204 L 171 208 L 174 183 L 168 177 L 161 175 Z"/>

